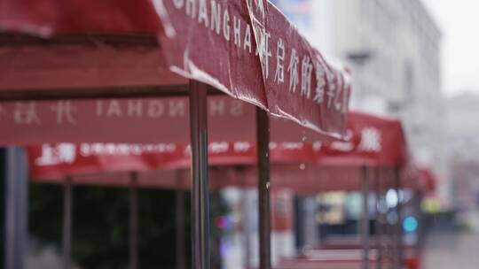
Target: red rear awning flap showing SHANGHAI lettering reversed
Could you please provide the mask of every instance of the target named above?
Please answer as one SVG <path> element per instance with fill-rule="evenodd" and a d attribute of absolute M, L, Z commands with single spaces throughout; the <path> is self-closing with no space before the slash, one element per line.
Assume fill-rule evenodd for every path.
<path fill-rule="evenodd" d="M 208 138 L 255 140 L 255 107 L 227 96 L 208 97 Z M 187 97 L 0 104 L 0 145 L 44 142 L 187 143 Z M 35 134 L 35 135 L 31 135 Z M 325 139 L 284 119 L 271 120 L 271 141 Z"/>

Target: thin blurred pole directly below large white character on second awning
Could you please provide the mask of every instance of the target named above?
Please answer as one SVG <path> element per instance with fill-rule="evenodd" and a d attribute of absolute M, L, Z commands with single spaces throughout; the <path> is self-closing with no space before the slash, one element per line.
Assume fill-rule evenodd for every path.
<path fill-rule="evenodd" d="M 363 167 L 363 214 L 361 238 L 363 242 L 363 269 L 369 269 L 369 210 L 367 198 L 369 195 L 369 168 Z"/>

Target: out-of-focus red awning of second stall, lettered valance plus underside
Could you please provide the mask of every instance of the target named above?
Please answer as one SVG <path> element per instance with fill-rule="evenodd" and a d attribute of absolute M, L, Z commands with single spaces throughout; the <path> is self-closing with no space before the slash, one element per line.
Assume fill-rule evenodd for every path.
<path fill-rule="evenodd" d="M 397 120 L 361 113 L 350 113 L 349 119 L 348 142 L 271 142 L 273 186 L 302 193 L 357 190 L 364 166 L 396 168 L 406 164 L 406 144 Z M 277 127 L 282 123 L 286 122 L 277 122 Z M 128 174 L 137 171 L 142 172 L 139 183 L 145 187 L 175 187 L 177 181 L 189 186 L 187 177 L 178 180 L 174 172 L 155 172 L 187 169 L 186 143 L 44 144 L 29 147 L 28 155 L 32 177 L 40 181 L 61 182 L 67 176 L 82 175 L 77 183 L 123 185 L 129 182 Z M 211 142 L 208 159 L 216 166 L 210 176 L 213 187 L 255 186 L 255 168 L 251 167 L 256 162 L 254 142 Z M 242 180 L 236 174 L 240 170 L 244 172 Z M 116 173 L 101 174 L 109 172 Z M 114 178 L 118 182 L 114 183 Z M 404 180 L 404 186 L 413 188 L 413 182 Z"/>

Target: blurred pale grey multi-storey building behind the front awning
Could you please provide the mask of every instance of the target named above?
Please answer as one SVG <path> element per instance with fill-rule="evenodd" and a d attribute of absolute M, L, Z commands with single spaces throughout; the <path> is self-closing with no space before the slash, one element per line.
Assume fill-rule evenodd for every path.
<path fill-rule="evenodd" d="M 351 107 L 403 119 L 413 156 L 447 177 L 441 31 L 420 0 L 277 0 L 310 42 L 349 65 Z M 449 201 L 447 185 L 439 195 Z"/>

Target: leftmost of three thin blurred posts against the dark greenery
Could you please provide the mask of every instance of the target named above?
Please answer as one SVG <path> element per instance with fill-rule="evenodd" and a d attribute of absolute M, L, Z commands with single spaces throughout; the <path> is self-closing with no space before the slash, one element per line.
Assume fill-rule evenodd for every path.
<path fill-rule="evenodd" d="M 69 269 L 72 255 L 72 216 L 73 216 L 73 187 L 72 179 L 67 177 L 63 184 L 63 231 L 62 255 L 63 268 Z"/>

